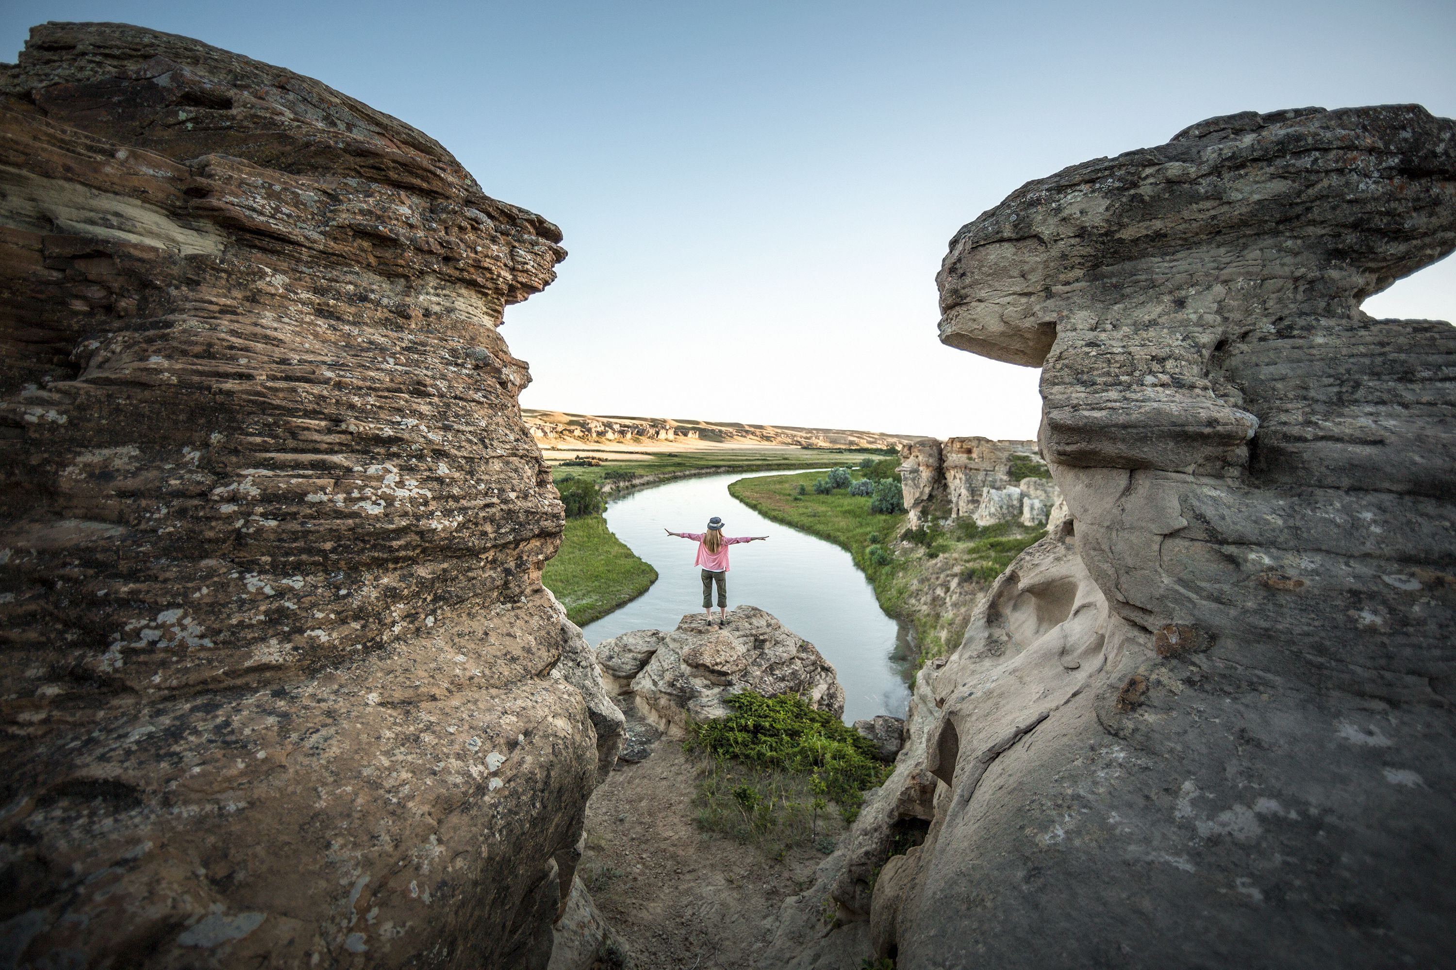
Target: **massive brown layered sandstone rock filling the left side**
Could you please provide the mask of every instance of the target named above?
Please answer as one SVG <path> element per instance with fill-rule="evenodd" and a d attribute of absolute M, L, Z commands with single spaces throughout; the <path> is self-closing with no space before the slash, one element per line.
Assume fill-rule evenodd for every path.
<path fill-rule="evenodd" d="M 495 329 L 561 233 L 186 38 L 0 98 L 7 955 L 543 966 L 614 715 Z"/>

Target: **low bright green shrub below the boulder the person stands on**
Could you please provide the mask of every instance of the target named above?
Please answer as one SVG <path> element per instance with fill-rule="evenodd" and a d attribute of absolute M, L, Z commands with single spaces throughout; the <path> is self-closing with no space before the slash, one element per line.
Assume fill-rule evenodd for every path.
<path fill-rule="evenodd" d="M 843 721 L 817 711 L 792 693 L 764 698 L 745 690 L 724 698 L 732 714 L 718 721 L 687 725 L 689 750 L 744 762 L 759 769 L 810 776 L 810 785 L 842 808 L 858 808 L 863 791 L 890 773 L 875 759 L 875 747 Z M 748 795 L 732 792 L 744 804 Z M 753 801 L 757 810 L 759 801 Z"/>

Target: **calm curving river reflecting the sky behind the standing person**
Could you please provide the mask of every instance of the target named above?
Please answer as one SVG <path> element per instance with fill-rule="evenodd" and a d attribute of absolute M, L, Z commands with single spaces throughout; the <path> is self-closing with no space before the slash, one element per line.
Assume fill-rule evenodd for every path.
<path fill-rule="evenodd" d="M 696 543 L 662 530 L 702 532 L 712 516 L 721 516 L 729 536 L 769 536 L 767 542 L 732 548 L 728 607 L 757 606 L 814 644 L 834 664 L 844 687 L 844 721 L 877 714 L 903 718 L 910 702 L 904 664 L 895 660 L 903 632 L 881 612 L 865 574 L 839 546 L 769 521 L 728 494 L 728 484 L 740 478 L 782 473 L 689 478 L 610 502 L 607 526 L 651 562 L 660 578 L 617 612 L 587 625 L 587 641 L 596 645 L 629 629 L 673 629 L 683 613 L 700 612 Z"/>

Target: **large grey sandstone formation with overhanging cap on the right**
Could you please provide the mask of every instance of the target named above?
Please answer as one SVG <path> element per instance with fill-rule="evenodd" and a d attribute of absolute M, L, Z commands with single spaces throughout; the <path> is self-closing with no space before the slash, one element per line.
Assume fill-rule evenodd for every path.
<path fill-rule="evenodd" d="M 1453 248 L 1418 106 L 1214 118 L 957 234 L 942 338 L 1044 367 L 1070 518 L 922 676 L 926 840 L 804 966 L 1446 960 L 1456 329 L 1360 301 Z"/>

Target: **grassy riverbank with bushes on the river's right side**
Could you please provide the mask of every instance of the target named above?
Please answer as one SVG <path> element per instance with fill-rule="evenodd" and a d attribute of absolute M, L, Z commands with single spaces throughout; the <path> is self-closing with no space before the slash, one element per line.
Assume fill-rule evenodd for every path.
<path fill-rule="evenodd" d="M 853 472 L 853 478 L 859 478 Z M 906 516 L 869 511 L 869 498 L 836 489 L 815 495 L 818 472 L 769 475 L 732 482 L 728 494 L 759 514 L 802 529 L 847 549 L 869 578 L 879 607 L 910 623 L 917 666 L 955 650 L 976 602 L 990 583 L 1042 536 L 1042 529 L 1000 523 L 980 529 L 970 520 L 951 529 L 906 529 Z M 808 494 L 799 495 L 804 485 Z M 871 555 L 871 546 L 882 552 Z M 887 555 L 888 553 L 888 555 Z"/>

